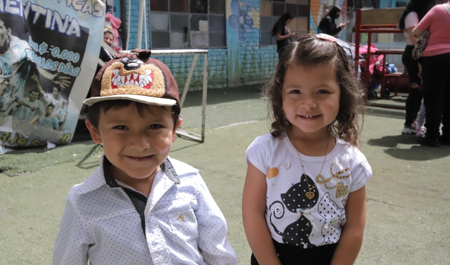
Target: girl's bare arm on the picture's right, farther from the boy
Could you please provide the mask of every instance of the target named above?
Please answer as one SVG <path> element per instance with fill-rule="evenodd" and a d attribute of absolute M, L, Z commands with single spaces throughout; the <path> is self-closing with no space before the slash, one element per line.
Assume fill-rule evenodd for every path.
<path fill-rule="evenodd" d="M 353 264 L 362 244 L 365 225 L 365 186 L 348 194 L 345 224 L 330 265 Z"/>

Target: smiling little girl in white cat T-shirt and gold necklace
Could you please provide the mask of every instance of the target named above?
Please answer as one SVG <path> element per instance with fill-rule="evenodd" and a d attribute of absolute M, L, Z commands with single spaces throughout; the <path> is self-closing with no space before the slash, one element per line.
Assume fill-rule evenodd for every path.
<path fill-rule="evenodd" d="M 352 264 L 371 176 L 356 148 L 353 62 L 334 37 L 305 35 L 283 52 L 264 95 L 273 122 L 247 149 L 242 195 L 251 264 Z"/>

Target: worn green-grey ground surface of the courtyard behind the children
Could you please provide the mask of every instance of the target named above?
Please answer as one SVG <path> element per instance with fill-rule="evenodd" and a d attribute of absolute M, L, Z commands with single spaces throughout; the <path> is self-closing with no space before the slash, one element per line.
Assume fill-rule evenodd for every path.
<path fill-rule="evenodd" d="M 200 170 L 225 215 L 240 264 L 249 264 L 251 253 L 241 220 L 245 150 L 269 128 L 258 92 L 256 86 L 208 90 L 205 142 L 177 138 L 170 154 Z M 201 92 L 187 94 L 184 128 L 199 131 L 200 102 Z M 415 144 L 414 136 L 400 134 L 403 118 L 402 110 L 381 108 L 367 108 L 364 116 L 362 152 L 373 176 L 366 184 L 367 221 L 356 264 L 450 264 L 450 146 Z M 0 156 L 0 167 L 10 165 L 0 173 L 0 264 L 50 263 L 67 192 L 95 170 L 100 153 L 82 143 L 37 156 Z M 35 170 L 38 162 L 45 168 L 5 173 Z"/>

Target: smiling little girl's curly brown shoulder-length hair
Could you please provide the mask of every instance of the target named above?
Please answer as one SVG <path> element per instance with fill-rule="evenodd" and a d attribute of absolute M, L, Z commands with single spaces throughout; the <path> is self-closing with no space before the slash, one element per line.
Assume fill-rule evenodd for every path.
<path fill-rule="evenodd" d="M 310 67 L 331 62 L 336 69 L 340 87 L 339 111 L 328 125 L 328 130 L 353 146 L 359 146 L 359 114 L 363 114 L 363 94 L 354 72 L 354 64 L 343 48 L 336 42 L 326 41 L 313 34 L 306 34 L 291 43 L 281 55 L 273 77 L 263 87 L 262 94 L 269 101 L 269 118 L 272 121 L 270 133 L 283 137 L 290 125 L 283 112 L 283 82 L 290 65 Z M 363 115 L 361 115 L 363 119 Z"/>

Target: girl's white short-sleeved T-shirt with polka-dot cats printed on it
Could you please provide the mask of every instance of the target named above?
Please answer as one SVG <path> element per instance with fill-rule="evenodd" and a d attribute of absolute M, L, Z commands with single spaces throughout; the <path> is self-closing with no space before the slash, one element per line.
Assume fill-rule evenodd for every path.
<path fill-rule="evenodd" d="M 246 161 L 266 175 L 266 221 L 277 242 L 299 247 L 336 243 L 345 223 L 344 206 L 348 192 L 365 185 L 372 175 L 365 156 L 347 142 L 336 144 L 319 174 L 324 156 L 306 156 L 300 160 L 287 136 L 270 133 L 257 137 L 247 148 Z M 311 199 L 305 196 L 314 184 Z M 312 222 L 311 222 L 312 221 Z"/>

